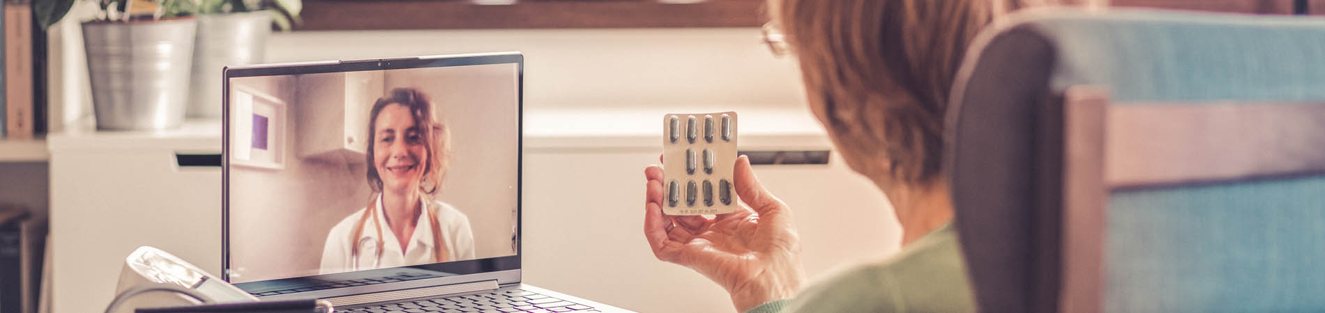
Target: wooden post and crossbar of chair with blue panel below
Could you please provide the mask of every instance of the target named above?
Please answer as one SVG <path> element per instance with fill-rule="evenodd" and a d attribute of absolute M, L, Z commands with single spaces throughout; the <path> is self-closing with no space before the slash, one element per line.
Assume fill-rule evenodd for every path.
<path fill-rule="evenodd" d="M 1060 312 L 1325 310 L 1325 102 L 1064 106 Z"/>

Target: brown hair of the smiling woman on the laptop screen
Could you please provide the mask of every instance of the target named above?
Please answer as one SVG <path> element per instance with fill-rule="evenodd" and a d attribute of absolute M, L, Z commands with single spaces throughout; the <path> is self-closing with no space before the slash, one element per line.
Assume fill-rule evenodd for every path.
<path fill-rule="evenodd" d="M 432 103 L 428 102 L 428 95 L 416 88 L 394 88 L 386 96 L 378 98 L 378 102 L 372 104 L 372 111 L 368 114 L 368 151 L 366 153 L 368 160 L 368 186 L 375 193 L 382 191 L 382 176 L 372 162 L 372 149 L 376 143 L 374 136 L 378 128 L 378 115 L 388 104 L 400 104 L 409 108 L 415 127 L 419 128 L 420 135 L 424 137 L 424 149 L 428 152 L 428 161 L 424 166 L 423 181 L 419 182 L 419 189 L 429 195 L 437 194 L 441 190 L 443 180 L 447 178 L 447 169 L 450 168 L 450 131 L 432 112 Z"/>

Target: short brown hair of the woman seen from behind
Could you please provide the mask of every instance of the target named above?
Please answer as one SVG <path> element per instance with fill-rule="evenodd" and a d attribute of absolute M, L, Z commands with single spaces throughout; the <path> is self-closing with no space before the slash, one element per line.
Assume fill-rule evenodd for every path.
<path fill-rule="evenodd" d="M 839 149 L 924 184 L 941 172 L 943 111 L 967 46 L 1027 1 L 1052 0 L 771 0 L 768 13 Z"/>

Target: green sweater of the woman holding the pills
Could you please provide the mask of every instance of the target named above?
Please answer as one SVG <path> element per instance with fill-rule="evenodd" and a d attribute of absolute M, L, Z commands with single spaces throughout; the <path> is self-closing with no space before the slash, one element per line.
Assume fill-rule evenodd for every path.
<path fill-rule="evenodd" d="M 966 263 L 949 223 L 896 258 L 839 273 L 795 298 L 766 302 L 746 313 L 974 310 Z"/>

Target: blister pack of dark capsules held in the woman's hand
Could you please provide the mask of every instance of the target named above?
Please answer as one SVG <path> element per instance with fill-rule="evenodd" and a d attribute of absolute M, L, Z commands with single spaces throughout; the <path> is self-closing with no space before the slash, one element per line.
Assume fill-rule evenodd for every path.
<path fill-rule="evenodd" d="M 737 112 L 662 116 L 662 213 L 735 211 Z"/>

